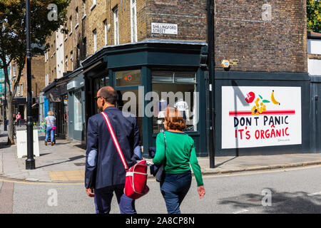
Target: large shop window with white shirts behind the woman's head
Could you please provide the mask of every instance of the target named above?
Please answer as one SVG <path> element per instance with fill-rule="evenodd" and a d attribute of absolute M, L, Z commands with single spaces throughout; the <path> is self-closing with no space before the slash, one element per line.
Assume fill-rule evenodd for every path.
<path fill-rule="evenodd" d="M 196 131 L 198 123 L 198 94 L 195 72 L 152 71 L 152 90 L 159 100 L 153 105 L 153 133 L 163 130 L 164 110 L 167 105 L 180 110 L 186 121 L 185 131 Z"/>

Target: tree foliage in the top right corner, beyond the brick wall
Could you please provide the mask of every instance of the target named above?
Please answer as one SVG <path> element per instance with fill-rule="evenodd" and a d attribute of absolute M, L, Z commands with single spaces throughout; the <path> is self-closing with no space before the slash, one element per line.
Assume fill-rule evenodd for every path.
<path fill-rule="evenodd" d="M 321 33 L 320 0 L 307 0 L 307 29 Z"/>

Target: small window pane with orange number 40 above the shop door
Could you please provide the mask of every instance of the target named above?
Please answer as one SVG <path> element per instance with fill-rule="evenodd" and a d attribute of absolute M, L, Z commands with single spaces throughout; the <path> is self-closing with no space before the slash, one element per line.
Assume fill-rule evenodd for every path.
<path fill-rule="evenodd" d="M 140 86 L 141 70 L 117 71 L 115 78 L 116 86 Z"/>

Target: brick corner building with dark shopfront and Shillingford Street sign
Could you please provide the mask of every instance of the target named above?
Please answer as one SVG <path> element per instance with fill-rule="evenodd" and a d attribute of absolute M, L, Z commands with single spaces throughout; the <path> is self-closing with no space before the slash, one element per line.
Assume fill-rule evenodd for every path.
<path fill-rule="evenodd" d="M 93 97 L 101 86 L 113 86 L 120 96 L 132 92 L 136 101 L 140 94 L 150 91 L 158 95 L 170 91 L 193 92 L 198 97 L 194 95 L 189 105 L 193 121 L 188 125 L 188 134 L 195 140 L 198 155 L 207 156 L 210 125 L 206 110 L 209 88 L 214 85 L 217 155 L 255 153 L 258 147 L 260 153 L 308 150 L 310 131 L 302 120 L 308 118 L 310 103 L 301 102 L 293 107 L 270 105 L 271 100 L 275 101 L 274 94 L 285 100 L 290 100 L 289 94 L 310 100 L 305 1 L 215 0 L 213 81 L 209 81 L 207 68 L 207 8 L 206 1 L 190 0 L 71 1 L 65 24 L 68 34 L 64 35 L 63 42 L 64 71 L 72 71 L 68 73 L 71 81 L 66 89 L 68 116 L 72 118 L 69 137 L 75 138 L 70 134 L 79 131 L 76 138 L 86 139 L 86 120 L 97 113 Z M 223 60 L 230 62 L 229 71 L 223 70 Z M 47 67 L 46 71 L 50 73 Z M 261 88 L 262 92 L 255 88 Z M 273 118 L 285 115 L 280 108 L 294 111 L 295 115 L 289 117 L 291 123 L 286 122 L 291 125 L 290 136 L 256 138 L 258 128 L 265 134 L 268 130 L 267 126 L 257 123 L 252 128 L 246 126 L 253 131 L 251 140 L 243 142 L 238 138 L 235 130 L 238 133 L 242 129 L 235 127 L 233 121 L 236 123 L 241 118 L 254 121 L 251 112 L 250 116 L 238 119 L 238 109 L 248 111 L 247 106 L 254 102 L 244 102 L 250 92 L 256 98 L 262 97 L 262 101 L 269 101 L 265 104 L 268 112 L 281 113 L 274 114 Z M 147 105 L 148 100 L 138 104 L 135 114 Z M 153 105 L 161 111 L 156 106 Z M 73 117 L 71 110 L 77 113 Z M 253 113 L 256 115 L 258 111 Z M 270 117 L 263 114 L 258 119 Z M 144 148 L 155 144 L 156 133 L 161 130 L 160 121 L 157 116 L 138 118 Z M 228 130 L 223 127 L 225 122 L 230 124 L 226 125 Z M 227 140 L 233 143 L 225 142 Z"/>

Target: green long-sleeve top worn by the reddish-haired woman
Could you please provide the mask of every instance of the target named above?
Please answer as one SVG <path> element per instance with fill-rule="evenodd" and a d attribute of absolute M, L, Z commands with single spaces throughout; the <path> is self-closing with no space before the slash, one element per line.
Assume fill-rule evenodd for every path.
<path fill-rule="evenodd" d="M 188 172 L 193 169 L 198 186 L 203 185 L 202 172 L 196 157 L 194 140 L 185 133 L 165 131 L 166 137 L 166 174 Z M 163 133 L 156 137 L 156 155 L 153 158 L 155 165 L 161 165 L 165 160 L 165 143 Z"/>

